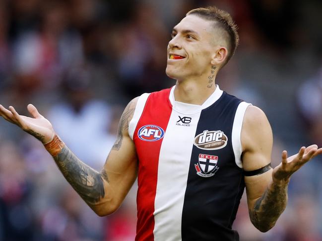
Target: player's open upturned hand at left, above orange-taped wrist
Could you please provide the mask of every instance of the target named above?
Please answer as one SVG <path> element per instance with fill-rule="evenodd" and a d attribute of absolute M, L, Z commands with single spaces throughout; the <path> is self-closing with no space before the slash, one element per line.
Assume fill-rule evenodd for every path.
<path fill-rule="evenodd" d="M 33 118 L 19 115 L 12 106 L 6 109 L 2 105 L 0 105 L 0 116 L 19 126 L 43 144 L 50 142 L 55 135 L 52 124 L 44 116 L 39 114 L 34 105 L 28 104 L 27 109 Z"/>

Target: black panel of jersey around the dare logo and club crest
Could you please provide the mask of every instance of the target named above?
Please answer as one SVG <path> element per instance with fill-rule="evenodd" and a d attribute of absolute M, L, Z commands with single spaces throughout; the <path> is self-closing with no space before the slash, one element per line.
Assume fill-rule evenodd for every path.
<path fill-rule="evenodd" d="M 223 92 L 215 103 L 201 111 L 195 136 L 205 130 L 220 130 L 227 136 L 228 142 L 217 150 L 200 149 L 193 145 L 182 213 L 182 241 L 239 240 L 238 233 L 232 230 L 232 223 L 245 183 L 243 169 L 235 163 L 231 137 L 236 109 L 241 101 Z M 218 156 L 216 166 L 219 169 L 213 176 L 197 175 L 195 165 L 199 154 Z M 208 167 L 204 165 L 203 172 L 212 168 L 209 159 L 200 163 L 208 163 Z"/>

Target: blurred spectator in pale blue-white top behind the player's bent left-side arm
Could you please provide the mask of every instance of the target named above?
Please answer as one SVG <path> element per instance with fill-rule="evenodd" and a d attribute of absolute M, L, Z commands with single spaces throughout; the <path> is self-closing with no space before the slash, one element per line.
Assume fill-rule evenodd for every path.
<path fill-rule="evenodd" d="M 113 112 L 108 104 L 93 97 L 90 80 L 86 68 L 70 69 L 62 83 L 64 98 L 52 106 L 48 118 L 81 160 L 101 168 L 115 141 L 108 133 Z"/>

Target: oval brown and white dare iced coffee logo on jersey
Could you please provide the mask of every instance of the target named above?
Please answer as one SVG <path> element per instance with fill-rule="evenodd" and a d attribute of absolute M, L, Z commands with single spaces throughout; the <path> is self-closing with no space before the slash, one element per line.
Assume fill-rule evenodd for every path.
<path fill-rule="evenodd" d="M 196 147 L 203 150 L 217 150 L 227 145 L 228 138 L 222 131 L 205 130 L 194 138 Z"/>

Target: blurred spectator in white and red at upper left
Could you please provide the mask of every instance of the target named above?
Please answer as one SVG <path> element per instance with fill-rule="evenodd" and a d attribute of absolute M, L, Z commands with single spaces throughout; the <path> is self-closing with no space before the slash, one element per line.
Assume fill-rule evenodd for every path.
<path fill-rule="evenodd" d="M 56 87 L 64 70 L 83 62 L 79 33 L 69 28 L 64 1 L 42 2 L 40 31 L 21 31 L 14 44 L 19 95 Z"/>

